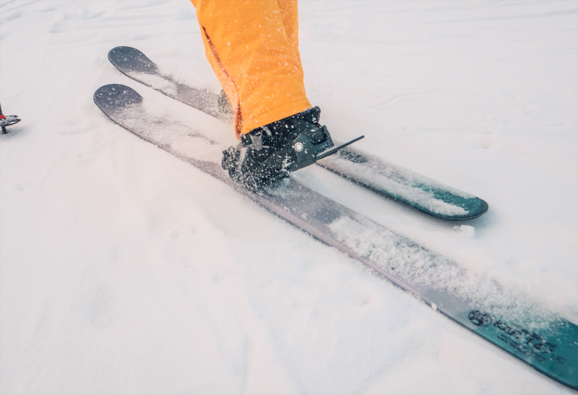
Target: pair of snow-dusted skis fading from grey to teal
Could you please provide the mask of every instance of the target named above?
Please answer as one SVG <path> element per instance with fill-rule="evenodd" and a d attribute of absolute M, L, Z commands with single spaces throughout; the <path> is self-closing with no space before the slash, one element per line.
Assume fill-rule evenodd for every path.
<path fill-rule="evenodd" d="M 131 47 L 116 47 L 109 60 L 125 75 L 209 115 L 227 118 L 218 95 L 185 86 L 162 74 Z M 255 192 L 233 182 L 220 165 L 228 141 L 211 131 L 159 119 L 146 110 L 132 88 L 98 88 L 95 104 L 128 131 L 227 183 L 294 226 L 349 254 L 432 308 L 506 350 L 558 382 L 578 389 L 578 326 L 533 302 L 464 270 L 453 261 L 395 234 L 360 213 L 317 193 L 293 178 Z M 483 200 L 385 163 L 355 149 L 344 149 L 319 165 L 381 195 L 430 215 L 464 220 L 482 215 Z"/>

